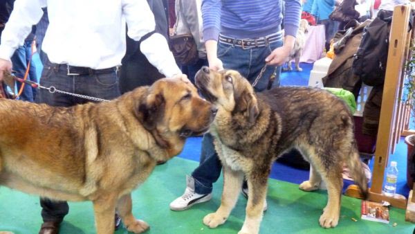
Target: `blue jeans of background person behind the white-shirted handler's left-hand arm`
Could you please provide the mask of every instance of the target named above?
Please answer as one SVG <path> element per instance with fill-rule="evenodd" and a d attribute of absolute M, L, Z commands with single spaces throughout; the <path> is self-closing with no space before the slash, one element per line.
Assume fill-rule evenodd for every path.
<path fill-rule="evenodd" d="M 12 55 L 10 60 L 13 64 L 13 70 L 16 71 L 17 78 L 24 78 L 24 74 L 26 73 L 26 68 L 28 66 L 28 62 L 32 57 L 32 41 L 25 41 L 23 46 L 17 48 L 15 53 Z M 31 80 L 33 82 L 39 82 L 37 79 L 36 73 L 36 66 L 33 62 L 30 62 L 30 69 L 28 73 L 27 80 Z M 21 88 L 21 82 L 16 82 L 17 90 L 19 91 Z M 33 102 L 36 98 L 37 89 L 30 87 L 28 84 L 24 85 L 24 89 L 21 92 L 19 97 L 20 100 L 25 100 L 29 102 Z"/>

